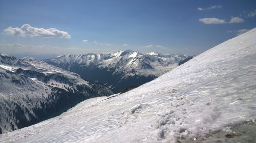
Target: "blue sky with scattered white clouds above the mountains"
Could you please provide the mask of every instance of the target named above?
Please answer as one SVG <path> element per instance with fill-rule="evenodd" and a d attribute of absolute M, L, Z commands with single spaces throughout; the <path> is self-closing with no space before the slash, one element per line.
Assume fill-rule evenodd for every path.
<path fill-rule="evenodd" d="M 3 1 L 0 53 L 197 55 L 256 27 L 256 1 Z"/>

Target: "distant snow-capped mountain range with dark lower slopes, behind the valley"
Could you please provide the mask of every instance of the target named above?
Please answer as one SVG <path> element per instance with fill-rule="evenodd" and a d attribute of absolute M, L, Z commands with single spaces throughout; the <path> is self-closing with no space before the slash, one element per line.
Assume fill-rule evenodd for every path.
<path fill-rule="evenodd" d="M 100 54 L 62 55 L 44 60 L 54 66 L 75 72 L 118 93 L 127 87 L 141 85 L 176 68 L 185 54 L 139 53 L 125 50 Z"/>

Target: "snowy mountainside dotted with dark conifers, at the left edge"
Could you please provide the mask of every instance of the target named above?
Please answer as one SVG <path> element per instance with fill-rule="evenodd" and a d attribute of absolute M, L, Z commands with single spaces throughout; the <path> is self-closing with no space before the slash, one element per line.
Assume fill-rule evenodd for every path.
<path fill-rule="evenodd" d="M 33 58 L 0 54 L 0 133 L 58 115 L 84 99 L 111 94 L 109 88 L 76 73 Z"/>

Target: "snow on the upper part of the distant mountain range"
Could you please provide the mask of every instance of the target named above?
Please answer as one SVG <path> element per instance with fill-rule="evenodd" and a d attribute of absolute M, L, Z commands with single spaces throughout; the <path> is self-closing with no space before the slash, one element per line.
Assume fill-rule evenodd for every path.
<path fill-rule="evenodd" d="M 114 69 L 113 74 L 121 74 L 124 79 L 137 75 L 158 77 L 176 68 L 177 63 L 186 57 L 187 55 L 182 54 L 139 53 L 125 50 L 100 54 L 63 55 L 45 60 L 45 62 L 71 71 L 72 69 L 70 68 L 74 65 L 78 67 L 94 66 L 96 69 Z M 145 65 L 146 67 L 149 65 L 152 68 L 145 70 L 143 68 Z"/>

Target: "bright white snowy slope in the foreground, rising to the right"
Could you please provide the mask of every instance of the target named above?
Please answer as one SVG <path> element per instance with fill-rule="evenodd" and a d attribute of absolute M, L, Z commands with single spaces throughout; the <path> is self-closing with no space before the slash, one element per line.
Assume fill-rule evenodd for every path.
<path fill-rule="evenodd" d="M 255 126 L 255 37 L 256 28 L 139 88 L 109 99 L 83 101 L 58 117 L 3 134 L 0 140 L 186 142 L 216 130 L 231 132 L 238 139 L 249 130 L 235 134 L 230 127 L 243 125 L 240 123 Z M 232 134 L 215 142 L 232 139 Z M 241 142 L 251 137 L 247 135 Z"/>

